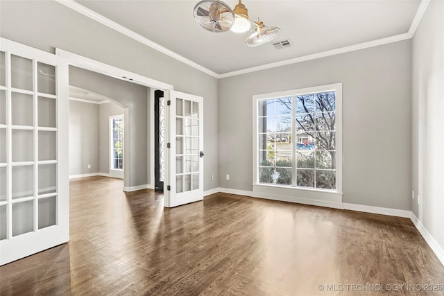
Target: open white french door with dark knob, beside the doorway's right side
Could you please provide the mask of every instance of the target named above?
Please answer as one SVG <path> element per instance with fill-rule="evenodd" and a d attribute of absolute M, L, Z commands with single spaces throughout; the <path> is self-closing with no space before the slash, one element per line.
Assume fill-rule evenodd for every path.
<path fill-rule="evenodd" d="M 203 98 L 169 91 L 164 206 L 203 200 Z"/>

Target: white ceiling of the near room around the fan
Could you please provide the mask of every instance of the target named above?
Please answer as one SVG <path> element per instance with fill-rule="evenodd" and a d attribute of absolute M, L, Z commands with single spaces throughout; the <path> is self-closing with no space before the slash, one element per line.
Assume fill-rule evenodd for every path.
<path fill-rule="evenodd" d="M 77 2 L 210 71 L 224 74 L 408 33 L 421 1 L 242 1 L 250 19 L 260 17 L 266 26 L 280 27 L 273 42 L 289 39 L 293 44 L 283 49 L 275 49 L 273 42 L 248 47 L 244 42 L 250 33 L 205 31 L 193 17 L 198 0 Z M 234 8 L 237 1 L 225 3 Z"/>

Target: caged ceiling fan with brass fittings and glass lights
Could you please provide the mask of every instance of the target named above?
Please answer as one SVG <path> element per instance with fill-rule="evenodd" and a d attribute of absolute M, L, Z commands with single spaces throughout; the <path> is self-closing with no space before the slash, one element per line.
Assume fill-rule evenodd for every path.
<path fill-rule="evenodd" d="M 210 32 L 225 32 L 231 29 L 235 33 L 250 31 L 251 24 L 255 24 L 255 31 L 247 37 L 247 46 L 258 46 L 273 40 L 280 31 L 278 27 L 267 27 L 262 21 L 250 21 L 248 10 L 241 3 L 232 10 L 230 6 L 220 0 L 202 0 L 194 6 L 194 19 Z"/>

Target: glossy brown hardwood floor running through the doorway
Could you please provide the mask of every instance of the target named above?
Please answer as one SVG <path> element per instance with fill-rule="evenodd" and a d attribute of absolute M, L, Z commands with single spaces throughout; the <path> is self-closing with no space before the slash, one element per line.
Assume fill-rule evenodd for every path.
<path fill-rule="evenodd" d="M 2 296 L 444 295 L 406 218 L 222 193 L 164 209 L 121 180 L 70 185 L 69 243 L 1 266 Z"/>

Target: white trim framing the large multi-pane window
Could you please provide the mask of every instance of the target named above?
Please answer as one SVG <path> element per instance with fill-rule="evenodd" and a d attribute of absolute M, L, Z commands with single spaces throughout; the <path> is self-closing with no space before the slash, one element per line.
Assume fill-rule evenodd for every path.
<path fill-rule="evenodd" d="M 282 98 L 282 97 L 294 97 L 301 96 L 305 94 L 313 94 L 319 92 L 336 92 L 336 189 L 317 189 L 293 185 L 280 185 L 280 184 L 263 184 L 259 183 L 259 169 L 258 169 L 258 134 L 259 126 L 257 124 L 257 119 L 259 118 L 258 101 Z M 292 112 L 292 116 L 296 116 L 296 112 Z M 292 132 L 294 129 L 292 128 Z M 293 149 L 292 149 L 293 151 Z M 296 159 L 293 157 L 293 162 Z M 293 171 L 296 170 L 296 165 L 293 164 Z M 293 172 L 294 173 L 294 172 Z M 283 92 L 271 92 L 268 94 L 255 94 L 253 95 L 253 191 L 255 191 L 255 186 L 273 186 L 276 189 L 293 189 L 298 190 L 302 194 L 304 191 L 314 191 L 320 193 L 334 193 L 336 195 L 342 195 L 342 83 L 333 83 L 330 85 L 320 85 L 315 87 L 305 87 L 302 89 L 291 89 Z"/>

